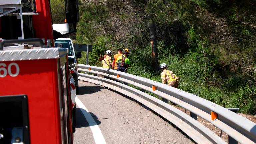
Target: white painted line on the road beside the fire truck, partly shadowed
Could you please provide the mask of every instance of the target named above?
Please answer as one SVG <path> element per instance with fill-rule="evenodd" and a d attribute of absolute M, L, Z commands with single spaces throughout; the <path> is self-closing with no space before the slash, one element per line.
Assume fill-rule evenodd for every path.
<path fill-rule="evenodd" d="M 91 114 L 87 110 L 87 108 L 84 106 L 84 104 L 76 97 L 76 104 L 79 108 L 83 109 L 82 112 L 84 114 L 84 117 L 86 118 L 88 124 L 90 125 L 90 128 L 93 133 L 95 144 L 106 144 L 105 139 L 100 131 L 100 128 L 92 118 Z"/>

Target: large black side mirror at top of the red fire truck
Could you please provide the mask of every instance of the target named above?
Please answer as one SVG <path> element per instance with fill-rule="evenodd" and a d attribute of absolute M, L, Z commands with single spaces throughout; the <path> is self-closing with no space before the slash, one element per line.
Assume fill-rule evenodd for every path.
<path fill-rule="evenodd" d="M 65 11 L 67 23 L 77 23 L 79 21 L 78 0 L 65 0 Z"/>

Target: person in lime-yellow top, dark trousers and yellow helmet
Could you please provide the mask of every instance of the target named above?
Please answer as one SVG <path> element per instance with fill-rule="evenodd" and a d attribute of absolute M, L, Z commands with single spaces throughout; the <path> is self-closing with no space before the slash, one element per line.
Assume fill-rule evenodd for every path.
<path fill-rule="evenodd" d="M 124 54 L 117 57 L 116 64 L 117 70 L 121 72 L 127 72 L 127 68 L 130 65 L 130 59 L 127 57 L 129 54 L 129 50 L 125 49 Z"/>

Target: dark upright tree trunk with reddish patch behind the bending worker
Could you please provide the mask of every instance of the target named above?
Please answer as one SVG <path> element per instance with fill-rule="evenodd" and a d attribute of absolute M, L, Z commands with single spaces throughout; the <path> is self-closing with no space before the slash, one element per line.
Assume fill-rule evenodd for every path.
<path fill-rule="evenodd" d="M 156 25 L 154 21 L 151 19 L 149 22 L 149 31 L 150 31 L 150 38 L 151 38 L 151 46 L 152 46 L 152 66 L 153 71 L 155 73 L 159 72 L 159 65 L 158 65 L 158 54 L 157 54 L 157 36 L 156 36 Z"/>

